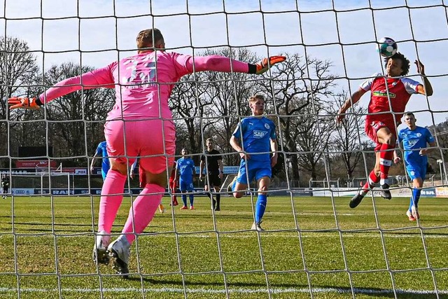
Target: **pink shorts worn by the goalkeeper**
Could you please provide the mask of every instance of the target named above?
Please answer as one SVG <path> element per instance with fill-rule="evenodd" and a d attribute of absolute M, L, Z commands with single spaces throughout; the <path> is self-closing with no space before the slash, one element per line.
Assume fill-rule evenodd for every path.
<path fill-rule="evenodd" d="M 137 157 L 140 166 L 160 174 L 172 166 L 176 151 L 176 129 L 172 120 L 129 118 L 108 120 L 104 125 L 110 158 L 129 165 Z"/>

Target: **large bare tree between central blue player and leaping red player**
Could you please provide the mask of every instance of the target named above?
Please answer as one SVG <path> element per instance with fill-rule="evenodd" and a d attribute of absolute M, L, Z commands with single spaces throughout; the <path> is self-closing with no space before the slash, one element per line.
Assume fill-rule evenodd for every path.
<path fill-rule="evenodd" d="M 309 130 L 316 130 L 318 126 L 316 118 L 308 120 L 311 116 L 306 116 L 303 111 L 309 109 L 311 104 L 321 109 L 319 103 L 332 95 L 335 76 L 330 74 L 332 64 L 328 61 L 302 57 L 299 54 L 286 54 L 286 57 L 286 62 L 276 64 L 270 70 L 270 75 L 269 72 L 265 75 L 271 76 L 272 81 L 259 83 L 260 90 L 265 92 L 268 98 L 274 99 L 274 111 L 279 115 L 279 144 L 286 152 L 286 158 L 290 160 L 292 179 L 299 180 L 299 166 L 304 165 L 305 160 L 311 162 L 315 158 L 311 151 L 316 148 L 309 146 L 321 146 L 320 143 L 300 144 L 304 142 L 304 137 L 312 134 Z M 327 125 L 324 125 L 322 130 L 326 127 Z M 298 151 L 306 148 L 309 148 L 309 158 L 300 158 Z M 309 165 L 306 168 L 313 167 Z"/>

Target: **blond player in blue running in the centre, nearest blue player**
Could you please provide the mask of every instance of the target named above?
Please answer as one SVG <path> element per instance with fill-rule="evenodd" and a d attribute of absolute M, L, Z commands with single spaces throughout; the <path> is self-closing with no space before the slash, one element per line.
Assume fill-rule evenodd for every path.
<path fill-rule="evenodd" d="M 277 141 L 274 122 L 263 116 L 265 98 L 262 95 L 254 95 L 248 102 L 252 116 L 243 118 L 230 138 L 230 145 L 241 157 L 232 191 L 235 198 L 242 197 L 245 193 L 243 190 L 247 190 L 249 183 L 253 179 L 257 181 L 258 198 L 252 229 L 263 230 L 260 223 L 265 214 L 272 167 L 277 162 Z"/>

